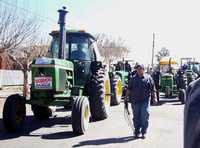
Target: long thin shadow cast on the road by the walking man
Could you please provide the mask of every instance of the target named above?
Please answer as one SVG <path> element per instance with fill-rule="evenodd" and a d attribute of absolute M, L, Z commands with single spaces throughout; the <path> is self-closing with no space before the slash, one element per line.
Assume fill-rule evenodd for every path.
<path fill-rule="evenodd" d="M 106 139 L 87 140 L 87 141 L 82 141 L 79 144 L 73 145 L 73 147 L 127 143 L 127 142 L 133 141 L 133 140 L 136 140 L 133 136 L 120 137 L 120 138 L 106 138 Z"/>

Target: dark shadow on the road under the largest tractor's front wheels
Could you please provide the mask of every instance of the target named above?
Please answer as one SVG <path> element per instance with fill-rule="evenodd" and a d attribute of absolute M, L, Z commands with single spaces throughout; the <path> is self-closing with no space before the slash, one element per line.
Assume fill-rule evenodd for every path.
<path fill-rule="evenodd" d="M 3 119 L 0 119 L 0 140 L 7 140 L 18 138 L 20 136 L 37 136 L 42 139 L 64 139 L 64 138 L 72 138 L 76 137 L 72 131 L 61 132 L 61 133 L 51 133 L 51 134 L 34 134 L 31 132 L 38 130 L 43 127 L 52 127 L 55 125 L 59 125 L 60 127 L 68 127 L 71 124 L 71 117 L 52 117 L 47 120 L 38 120 L 33 116 L 26 116 L 25 124 L 22 132 L 18 133 L 8 133 L 5 131 L 3 126 Z"/>

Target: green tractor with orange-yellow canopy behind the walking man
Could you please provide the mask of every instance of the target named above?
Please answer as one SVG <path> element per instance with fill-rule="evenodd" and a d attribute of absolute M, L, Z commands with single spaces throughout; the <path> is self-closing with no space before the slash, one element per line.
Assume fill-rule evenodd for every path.
<path fill-rule="evenodd" d="M 181 71 L 177 70 L 177 62 L 169 60 L 161 60 L 161 81 L 160 91 L 165 94 L 165 97 L 178 96 L 178 99 L 183 104 L 185 102 L 185 89 L 187 87 L 187 77 Z"/>

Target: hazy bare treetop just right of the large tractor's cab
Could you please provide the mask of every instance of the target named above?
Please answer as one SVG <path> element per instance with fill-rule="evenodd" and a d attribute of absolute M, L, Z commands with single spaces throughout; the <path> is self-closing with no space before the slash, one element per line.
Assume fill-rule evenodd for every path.
<path fill-rule="evenodd" d="M 105 34 L 97 34 L 95 37 L 100 53 L 107 62 L 121 59 L 129 52 L 128 47 L 125 45 L 125 40 L 122 38 L 112 39 Z"/>

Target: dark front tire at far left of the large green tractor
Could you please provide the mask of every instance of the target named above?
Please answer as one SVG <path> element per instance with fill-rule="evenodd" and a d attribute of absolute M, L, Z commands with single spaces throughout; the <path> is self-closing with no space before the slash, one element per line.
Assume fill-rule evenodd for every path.
<path fill-rule="evenodd" d="M 14 94 L 6 99 L 3 108 L 3 123 L 8 132 L 18 132 L 23 129 L 26 116 L 25 98 Z"/>

